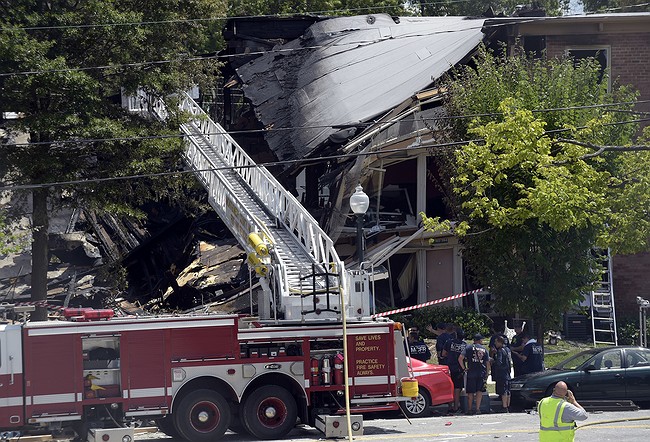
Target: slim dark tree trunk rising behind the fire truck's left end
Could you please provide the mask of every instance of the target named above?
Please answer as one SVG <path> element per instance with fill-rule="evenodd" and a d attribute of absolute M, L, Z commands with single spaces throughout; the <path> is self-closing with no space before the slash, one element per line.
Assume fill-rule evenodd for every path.
<path fill-rule="evenodd" d="M 32 242 L 32 301 L 45 303 L 47 301 L 47 267 L 48 244 L 47 230 L 49 218 L 47 213 L 46 188 L 36 189 L 32 193 L 33 206 L 33 242 Z M 47 308 L 37 305 L 31 315 L 32 321 L 46 321 Z"/>

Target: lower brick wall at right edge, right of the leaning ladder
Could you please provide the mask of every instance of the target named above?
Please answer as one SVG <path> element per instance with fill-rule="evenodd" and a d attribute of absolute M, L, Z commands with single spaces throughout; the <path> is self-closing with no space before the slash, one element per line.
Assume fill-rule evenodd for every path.
<path fill-rule="evenodd" d="M 650 299 L 650 252 L 614 257 L 614 301 L 616 317 L 639 317 L 636 297 Z"/>

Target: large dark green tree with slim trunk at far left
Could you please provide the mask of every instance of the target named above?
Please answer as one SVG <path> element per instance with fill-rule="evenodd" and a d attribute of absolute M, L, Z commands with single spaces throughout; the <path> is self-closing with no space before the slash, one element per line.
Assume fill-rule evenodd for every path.
<path fill-rule="evenodd" d="M 120 92 L 137 88 L 168 97 L 213 81 L 204 21 L 224 15 L 223 2 L 197 0 L 0 1 L 0 109 L 20 112 L 13 130 L 29 144 L 0 145 L 6 181 L 36 185 L 32 292 L 47 295 L 49 211 L 59 204 L 138 216 L 137 204 L 162 198 L 180 181 L 146 178 L 97 182 L 178 167 L 182 115 L 162 123 L 126 112 Z M 141 22 L 161 22 L 157 24 Z M 209 23 L 209 22 L 207 22 Z M 82 26 L 79 26 L 82 25 Z M 110 140 L 102 140 L 109 138 Z M 139 139 L 138 139 L 139 138 Z M 97 140 L 97 141 L 93 141 Z M 79 186 L 49 183 L 88 180 Z M 37 309 L 33 319 L 45 319 Z"/>

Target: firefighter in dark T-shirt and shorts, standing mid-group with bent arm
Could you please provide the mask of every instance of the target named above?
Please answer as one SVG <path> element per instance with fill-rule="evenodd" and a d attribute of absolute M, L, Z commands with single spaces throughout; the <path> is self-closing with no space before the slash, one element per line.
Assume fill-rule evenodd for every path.
<path fill-rule="evenodd" d="M 483 335 L 474 335 L 474 343 L 465 348 L 458 357 L 458 363 L 467 373 L 465 391 L 467 392 L 467 414 L 481 414 L 481 399 L 487 389 L 487 376 L 490 374 L 490 358 L 482 345 Z M 472 410 L 476 400 L 476 409 Z"/>

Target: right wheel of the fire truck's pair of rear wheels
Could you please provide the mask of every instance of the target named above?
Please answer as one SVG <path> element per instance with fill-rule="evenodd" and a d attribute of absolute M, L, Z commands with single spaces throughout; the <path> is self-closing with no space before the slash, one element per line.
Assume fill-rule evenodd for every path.
<path fill-rule="evenodd" d="M 286 389 L 275 385 L 258 388 L 244 402 L 243 423 L 258 439 L 282 439 L 296 425 L 298 407 Z"/>

